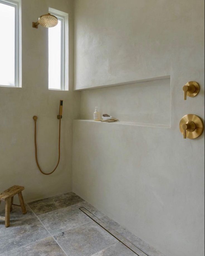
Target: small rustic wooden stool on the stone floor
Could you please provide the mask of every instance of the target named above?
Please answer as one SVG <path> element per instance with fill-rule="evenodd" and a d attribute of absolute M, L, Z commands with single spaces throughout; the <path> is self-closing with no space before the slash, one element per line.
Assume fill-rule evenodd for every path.
<path fill-rule="evenodd" d="M 0 200 L 5 201 L 5 217 L 0 216 L 0 219 L 5 221 L 6 228 L 10 225 L 10 211 L 12 211 L 12 206 L 21 207 L 22 213 L 26 214 L 26 207 L 21 193 L 22 190 L 24 190 L 24 187 L 14 185 L 0 194 Z M 13 204 L 14 195 L 16 194 L 18 194 L 20 205 Z"/>

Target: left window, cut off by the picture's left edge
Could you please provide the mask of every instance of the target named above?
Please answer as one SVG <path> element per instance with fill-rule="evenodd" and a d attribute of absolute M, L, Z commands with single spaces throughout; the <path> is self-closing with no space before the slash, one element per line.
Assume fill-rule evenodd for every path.
<path fill-rule="evenodd" d="M 19 3 L 0 0 L 0 86 L 21 87 Z"/>

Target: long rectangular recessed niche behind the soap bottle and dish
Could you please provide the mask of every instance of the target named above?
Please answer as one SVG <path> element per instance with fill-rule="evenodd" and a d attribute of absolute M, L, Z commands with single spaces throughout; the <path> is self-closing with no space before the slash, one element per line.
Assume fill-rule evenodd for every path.
<path fill-rule="evenodd" d="M 95 107 L 121 122 L 170 126 L 170 77 L 81 91 L 81 119 L 93 119 Z"/>

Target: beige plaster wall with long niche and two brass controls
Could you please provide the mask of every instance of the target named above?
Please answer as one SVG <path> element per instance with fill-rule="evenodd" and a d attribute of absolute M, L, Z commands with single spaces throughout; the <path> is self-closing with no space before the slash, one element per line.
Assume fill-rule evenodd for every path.
<path fill-rule="evenodd" d="M 136 86 L 81 92 L 81 118 L 99 104 L 122 121 L 154 123 L 152 105 L 161 124 L 169 113 L 170 127 L 74 121 L 73 191 L 165 255 L 203 256 L 204 134 L 183 139 L 179 121 L 188 113 L 204 120 L 204 1 L 76 0 L 74 14 L 75 89 Z M 170 94 L 136 83 L 163 76 Z M 201 91 L 184 101 L 182 86 L 192 80 Z"/>

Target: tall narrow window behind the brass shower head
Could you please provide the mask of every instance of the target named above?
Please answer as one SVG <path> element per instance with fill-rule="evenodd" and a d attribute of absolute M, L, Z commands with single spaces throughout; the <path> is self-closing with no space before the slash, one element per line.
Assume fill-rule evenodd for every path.
<path fill-rule="evenodd" d="M 58 18 L 58 24 L 53 28 L 48 28 L 48 88 L 68 90 L 68 79 L 65 74 L 65 56 L 68 55 L 65 50 L 65 45 L 68 48 L 65 31 L 68 33 L 68 15 L 51 8 L 49 12 Z"/>

